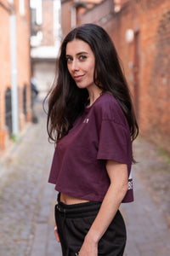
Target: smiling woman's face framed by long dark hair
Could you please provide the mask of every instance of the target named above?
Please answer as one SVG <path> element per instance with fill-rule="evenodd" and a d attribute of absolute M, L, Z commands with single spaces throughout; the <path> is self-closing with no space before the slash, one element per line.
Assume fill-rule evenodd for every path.
<path fill-rule="evenodd" d="M 69 73 L 78 88 L 92 90 L 94 84 L 95 57 L 90 46 L 80 39 L 66 45 L 66 60 Z"/>

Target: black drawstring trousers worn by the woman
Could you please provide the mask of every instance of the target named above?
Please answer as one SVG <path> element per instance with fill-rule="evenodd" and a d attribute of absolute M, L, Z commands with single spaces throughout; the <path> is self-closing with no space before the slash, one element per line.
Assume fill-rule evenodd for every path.
<path fill-rule="evenodd" d="M 55 206 L 55 221 L 58 226 L 63 256 L 78 255 L 84 237 L 93 224 L 100 206 L 101 203 L 95 201 L 74 205 L 65 205 L 59 201 Z M 126 227 L 122 214 L 118 210 L 99 241 L 98 255 L 122 256 L 126 240 Z"/>

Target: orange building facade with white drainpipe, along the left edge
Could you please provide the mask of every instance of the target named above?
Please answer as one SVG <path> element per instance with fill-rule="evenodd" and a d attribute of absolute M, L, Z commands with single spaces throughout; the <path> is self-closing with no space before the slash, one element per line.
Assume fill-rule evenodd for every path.
<path fill-rule="evenodd" d="M 0 1 L 0 152 L 31 121 L 29 0 Z"/>

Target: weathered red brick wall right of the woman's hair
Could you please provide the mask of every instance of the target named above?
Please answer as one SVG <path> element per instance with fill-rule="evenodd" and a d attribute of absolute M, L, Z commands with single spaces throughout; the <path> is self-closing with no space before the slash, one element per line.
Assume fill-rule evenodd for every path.
<path fill-rule="evenodd" d="M 104 27 L 121 56 L 141 134 L 170 151 L 170 2 L 129 1 Z M 127 44 L 129 28 L 139 32 L 139 47 Z"/>

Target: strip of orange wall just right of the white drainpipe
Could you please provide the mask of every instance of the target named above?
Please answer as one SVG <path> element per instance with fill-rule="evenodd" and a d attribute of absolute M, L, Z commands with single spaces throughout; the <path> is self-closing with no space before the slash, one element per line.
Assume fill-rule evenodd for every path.
<path fill-rule="evenodd" d="M 23 90 L 27 88 L 27 120 L 31 120 L 31 59 L 30 59 L 30 9 L 29 1 L 25 1 L 26 15 L 21 16 L 19 12 L 19 1 L 17 8 L 17 67 L 19 86 L 19 109 L 20 109 L 20 130 L 25 126 L 26 119 L 23 114 Z"/>

